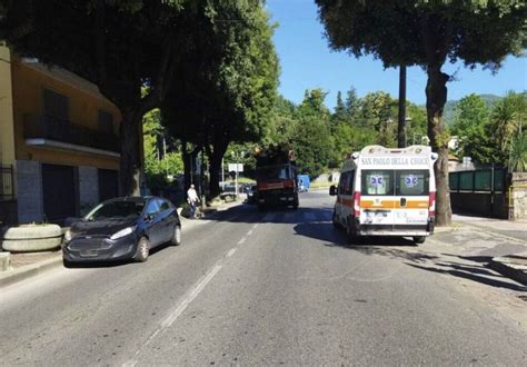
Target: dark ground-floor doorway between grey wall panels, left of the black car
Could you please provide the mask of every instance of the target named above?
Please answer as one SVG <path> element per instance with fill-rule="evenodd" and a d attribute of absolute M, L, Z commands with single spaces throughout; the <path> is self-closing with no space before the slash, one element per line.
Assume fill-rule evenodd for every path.
<path fill-rule="evenodd" d="M 62 222 L 76 216 L 76 169 L 70 166 L 42 165 L 42 194 L 44 218 Z"/>

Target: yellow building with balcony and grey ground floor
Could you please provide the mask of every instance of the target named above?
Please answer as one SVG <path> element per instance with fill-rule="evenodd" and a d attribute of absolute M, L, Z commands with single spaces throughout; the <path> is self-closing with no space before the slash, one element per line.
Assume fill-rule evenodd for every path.
<path fill-rule="evenodd" d="M 121 115 L 97 86 L 0 44 L 0 221 L 58 221 L 118 195 Z"/>

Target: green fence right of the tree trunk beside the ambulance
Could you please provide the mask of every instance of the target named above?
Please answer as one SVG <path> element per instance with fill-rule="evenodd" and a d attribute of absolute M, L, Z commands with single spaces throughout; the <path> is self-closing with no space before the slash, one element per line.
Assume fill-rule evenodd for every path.
<path fill-rule="evenodd" d="M 450 172 L 448 179 L 455 211 L 508 218 L 506 168 Z"/>

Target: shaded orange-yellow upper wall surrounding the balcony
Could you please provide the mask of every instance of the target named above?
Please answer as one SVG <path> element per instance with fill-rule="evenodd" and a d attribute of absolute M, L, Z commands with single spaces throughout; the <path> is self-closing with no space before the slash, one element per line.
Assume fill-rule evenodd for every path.
<path fill-rule="evenodd" d="M 88 82 L 81 80 L 76 82 L 74 78 L 64 79 L 60 72 L 44 69 L 39 65 L 26 63 L 19 58 L 13 58 L 12 80 L 17 159 L 118 169 L 118 158 L 28 147 L 26 145 L 23 121 L 27 115 L 41 116 L 43 113 L 44 88 L 69 98 L 69 120 L 71 122 L 97 130 L 99 110 L 105 110 L 113 116 L 115 132 L 118 133 L 118 122 L 121 120 L 120 111 L 98 93 L 93 86 L 89 87 Z"/>

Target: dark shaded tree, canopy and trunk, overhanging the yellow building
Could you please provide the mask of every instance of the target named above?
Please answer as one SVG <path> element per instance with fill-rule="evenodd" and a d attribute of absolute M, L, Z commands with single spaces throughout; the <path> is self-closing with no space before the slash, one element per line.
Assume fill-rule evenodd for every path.
<path fill-rule="evenodd" d="M 120 109 L 120 186 L 139 194 L 142 116 L 163 99 L 192 30 L 188 0 L 3 0 L 0 39 L 95 82 Z M 141 88 L 148 86 L 148 92 Z"/>

